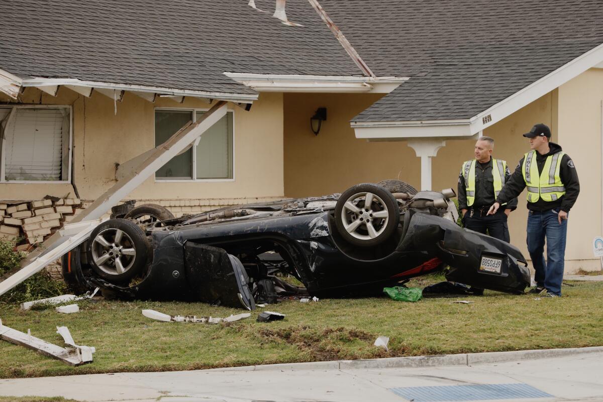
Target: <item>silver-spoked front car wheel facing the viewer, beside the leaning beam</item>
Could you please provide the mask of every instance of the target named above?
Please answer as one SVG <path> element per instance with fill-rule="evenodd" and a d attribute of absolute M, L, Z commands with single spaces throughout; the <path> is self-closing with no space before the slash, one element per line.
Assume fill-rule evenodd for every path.
<path fill-rule="evenodd" d="M 127 219 L 109 219 L 90 234 L 90 266 L 101 278 L 127 281 L 147 265 L 149 244 L 144 231 Z"/>

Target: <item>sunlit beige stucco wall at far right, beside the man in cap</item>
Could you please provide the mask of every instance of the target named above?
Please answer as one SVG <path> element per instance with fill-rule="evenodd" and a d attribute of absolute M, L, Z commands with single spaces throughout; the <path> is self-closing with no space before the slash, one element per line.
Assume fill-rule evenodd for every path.
<path fill-rule="evenodd" d="M 590 69 L 559 87 L 558 135 L 580 178 L 580 196 L 570 212 L 566 259 L 584 269 L 601 269 L 593 239 L 603 235 L 601 199 L 601 105 L 603 69 Z"/>

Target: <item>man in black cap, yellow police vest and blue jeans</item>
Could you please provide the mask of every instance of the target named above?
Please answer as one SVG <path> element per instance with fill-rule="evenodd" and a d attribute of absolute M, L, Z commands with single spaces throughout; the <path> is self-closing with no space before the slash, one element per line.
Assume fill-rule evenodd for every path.
<path fill-rule="evenodd" d="M 544 124 L 523 134 L 532 149 L 519 161 L 488 215 L 528 187 L 528 252 L 536 274 L 531 293 L 561 296 L 565 262 L 567 216 L 580 192 L 578 173 L 569 155 L 551 142 Z M 546 239 L 546 262 L 544 256 Z"/>

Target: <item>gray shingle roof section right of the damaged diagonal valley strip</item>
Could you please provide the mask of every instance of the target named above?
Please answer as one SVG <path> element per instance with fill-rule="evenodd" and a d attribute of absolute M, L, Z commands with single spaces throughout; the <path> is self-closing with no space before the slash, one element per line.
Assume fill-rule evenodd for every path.
<path fill-rule="evenodd" d="M 603 43 L 599 0 L 321 0 L 378 76 L 353 121 L 470 118 Z"/>

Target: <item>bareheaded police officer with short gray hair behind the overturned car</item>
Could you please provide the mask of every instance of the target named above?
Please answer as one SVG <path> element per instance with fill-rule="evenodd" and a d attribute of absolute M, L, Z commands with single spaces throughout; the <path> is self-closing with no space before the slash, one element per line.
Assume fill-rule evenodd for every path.
<path fill-rule="evenodd" d="M 458 177 L 458 206 L 467 229 L 478 231 L 508 242 L 507 217 L 517 208 L 517 198 L 505 208 L 488 216 L 488 209 L 511 175 L 507 162 L 493 159 L 494 139 L 480 137 L 475 143 L 475 159 L 463 163 Z"/>

